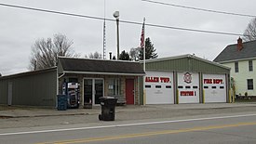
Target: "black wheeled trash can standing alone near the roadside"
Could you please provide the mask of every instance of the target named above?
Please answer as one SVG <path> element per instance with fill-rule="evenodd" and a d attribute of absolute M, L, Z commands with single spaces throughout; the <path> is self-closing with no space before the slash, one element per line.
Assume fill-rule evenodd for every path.
<path fill-rule="evenodd" d="M 115 105 L 117 98 L 114 97 L 101 97 L 101 114 L 99 115 L 100 121 L 115 121 Z"/>

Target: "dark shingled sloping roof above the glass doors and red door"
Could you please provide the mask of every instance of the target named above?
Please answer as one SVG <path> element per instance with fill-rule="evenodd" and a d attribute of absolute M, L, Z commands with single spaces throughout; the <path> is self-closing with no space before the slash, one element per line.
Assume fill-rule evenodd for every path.
<path fill-rule="evenodd" d="M 141 64 L 133 61 L 60 57 L 59 62 L 63 72 L 124 75 L 145 74 Z"/>

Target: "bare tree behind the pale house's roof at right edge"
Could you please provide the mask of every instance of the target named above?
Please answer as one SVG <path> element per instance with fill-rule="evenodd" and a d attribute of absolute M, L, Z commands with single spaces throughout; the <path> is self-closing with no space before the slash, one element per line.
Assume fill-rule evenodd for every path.
<path fill-rule="evenodd" d="M 250 20 L 243 36 L 244 41 L 256 40 L 256 18 Z"/>

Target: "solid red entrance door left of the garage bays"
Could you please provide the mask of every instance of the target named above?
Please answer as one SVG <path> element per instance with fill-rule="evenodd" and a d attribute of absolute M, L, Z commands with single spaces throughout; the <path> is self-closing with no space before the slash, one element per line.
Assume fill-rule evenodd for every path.
<path fill-rule="evenodd" d="M 126 99 L 127 104 L 134 104 L 134 80 L 126 80 Z"/>

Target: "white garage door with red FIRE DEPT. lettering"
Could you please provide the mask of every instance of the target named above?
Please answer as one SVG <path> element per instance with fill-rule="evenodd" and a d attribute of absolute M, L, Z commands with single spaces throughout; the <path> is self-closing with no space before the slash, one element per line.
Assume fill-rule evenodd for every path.
<path fill-rule="evenodd" d="M 226 102 L 226 79 L 224 74 L 203 74 L 205 102 Z"/>

